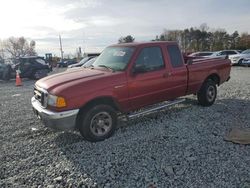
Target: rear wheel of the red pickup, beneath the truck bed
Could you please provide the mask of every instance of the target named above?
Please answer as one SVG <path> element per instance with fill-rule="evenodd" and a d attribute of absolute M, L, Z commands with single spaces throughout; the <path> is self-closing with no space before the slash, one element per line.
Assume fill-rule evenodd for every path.
<path fill-rule="evenodd" d="M 203 83 L 197 93 L 198 102 L 201 106 L 211 106 L 217 96 L 217 87 L 213 80 L 207 80 Z"/>

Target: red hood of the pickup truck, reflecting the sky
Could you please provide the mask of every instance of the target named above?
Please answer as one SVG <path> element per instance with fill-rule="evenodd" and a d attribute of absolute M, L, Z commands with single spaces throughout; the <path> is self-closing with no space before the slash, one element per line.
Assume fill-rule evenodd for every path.
<path fill-rule="evenodd" d="M 57 86 L 67 84 L 69 82 L 79 81 L 83 79 L 90 80 L 103 76 L 105 74 L 109 74 L 109 72 L 84 68 L 71 69 L 62 73 L 53 74 L 51 76 L 42 78 L 36 82 L 36 86 L 46 90 L 51 90 Z"/>

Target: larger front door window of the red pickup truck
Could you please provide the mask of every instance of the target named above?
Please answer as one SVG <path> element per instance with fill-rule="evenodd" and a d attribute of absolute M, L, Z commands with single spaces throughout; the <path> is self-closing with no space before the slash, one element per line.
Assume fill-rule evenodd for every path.
<path fill-rule="evenodd" d="M 147 47 L 142 49 L 135 62 L 135 69 L 139 72 L 149 72 L 162 69 L 164 61 L 159 47 Z"/>

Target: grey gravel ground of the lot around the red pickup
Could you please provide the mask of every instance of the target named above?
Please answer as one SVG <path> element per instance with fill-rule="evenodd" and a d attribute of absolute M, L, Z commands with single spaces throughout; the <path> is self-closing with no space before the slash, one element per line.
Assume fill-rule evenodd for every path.
<path fill-rule="evenodd" d="M 250 187 L 250 146 L 224 141 L 250 127 L 250 68 L 233 67 L 211 107 L 195 96 L 120 122 L 99 143 L 54 132 L 33 115 L 34 81 L 0 82 L 0 187 Z"/>

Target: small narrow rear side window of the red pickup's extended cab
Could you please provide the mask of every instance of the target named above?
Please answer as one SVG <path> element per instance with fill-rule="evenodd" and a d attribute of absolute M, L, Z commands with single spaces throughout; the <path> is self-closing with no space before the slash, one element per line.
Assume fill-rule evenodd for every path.
<path fill-rule="evenodd" d="M 170 63 L 173 67 L 181 67 L 183 65 L 181 52 L 176 45 L 167 46 L 167 51 L 170 57 Z"/>

